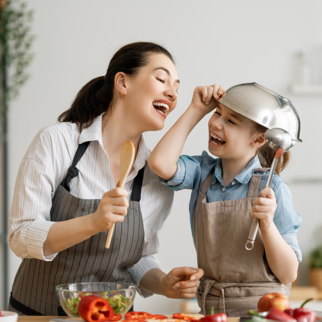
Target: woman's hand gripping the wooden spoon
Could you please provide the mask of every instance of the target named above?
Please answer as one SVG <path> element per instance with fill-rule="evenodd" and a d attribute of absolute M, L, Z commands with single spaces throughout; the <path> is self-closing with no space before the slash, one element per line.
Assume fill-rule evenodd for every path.
<path fill-rule="evenodd" d="M 103 194 L 99 206 L 92 214 L 92 224 L 95 230 L 104 232 L 111 227 L 112 223 L 124 220 L 129 206 L 127 195 L 127 190 L 118 187 Z"/>

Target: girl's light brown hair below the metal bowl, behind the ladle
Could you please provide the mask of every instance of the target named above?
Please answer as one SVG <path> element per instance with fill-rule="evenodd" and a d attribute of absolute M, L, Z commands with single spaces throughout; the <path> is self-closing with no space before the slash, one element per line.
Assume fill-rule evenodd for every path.
<path fill-rule="evenodd" d="M 265 133 L 267 128 L 264 126 L 254 122 L 254 129 L 253 133 Z M 260 160 L 260 165 L 263 168 L 270 168 L 273 158 L 275 156 L 275 151 L 271 149 L 267 143 L 265 143 L 262 147 L 258 148 L 256 151 L 256 154 L 258 155 L 258 158 Z M 277 165 L 275 168 L 275 172 L 279 175 L 280 172 L 282 172 L 286 166 L 289 164 L 289 160 L 291 158 L 290 151 L 284 152 L 278 159 Z"/>

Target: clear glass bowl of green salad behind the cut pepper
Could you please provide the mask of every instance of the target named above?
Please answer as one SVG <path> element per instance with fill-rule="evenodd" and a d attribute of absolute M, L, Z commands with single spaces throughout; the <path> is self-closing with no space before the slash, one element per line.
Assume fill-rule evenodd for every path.
<path fill-rule="evenodd" d="M 114 313 L 124 317 L 132 307 L 137 286 L 118 282 L 70 283 L 56 286 L 59 302 L 69 317 L 79 317 L 78 304 L 82 296 L 96 295 L 109 301 Z"/>

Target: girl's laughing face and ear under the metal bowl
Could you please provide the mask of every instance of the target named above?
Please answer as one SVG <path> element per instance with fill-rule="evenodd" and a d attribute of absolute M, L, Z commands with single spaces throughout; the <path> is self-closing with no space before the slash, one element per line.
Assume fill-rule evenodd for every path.
<path fill-rule="evenodd" d="M 263 134 L 252 133 L 253 123 L 249 118 L 221 103 L 210 118 L 208 127 L 210 153 L 226 160 L 252 158 L 256 148 L 265 143 Z"/>

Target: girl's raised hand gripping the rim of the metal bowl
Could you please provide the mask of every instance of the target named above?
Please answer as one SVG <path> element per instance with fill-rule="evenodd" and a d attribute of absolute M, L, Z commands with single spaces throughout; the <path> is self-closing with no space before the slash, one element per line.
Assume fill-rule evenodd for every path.
<path fill-rule="evenodd" d="M 223 86 L 214 84 L 211 86 L 197 86 L 194 89 L 194 95 L 190 106 L 200 112 L 202 117 L 211 112 L 217 107 L 217 101 L 220 95 L 223 94 Z"/>

